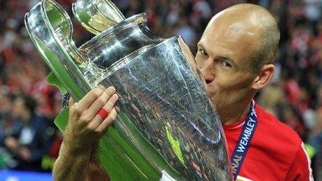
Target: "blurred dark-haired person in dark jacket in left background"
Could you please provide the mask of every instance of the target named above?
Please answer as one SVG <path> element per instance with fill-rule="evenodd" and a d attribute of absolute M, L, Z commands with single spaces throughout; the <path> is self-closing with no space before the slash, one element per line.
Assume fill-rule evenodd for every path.
<path fill-rule="evenodd" d="M 49 146 L 46 119 L 35 113 L 37 103 L 31 96 L 19 95 L 12 103 L 14 120 L 7 134 L 0 135 L 0 146 L 8 150 L 10 169 L 40 171 L 42 157 Z"/>

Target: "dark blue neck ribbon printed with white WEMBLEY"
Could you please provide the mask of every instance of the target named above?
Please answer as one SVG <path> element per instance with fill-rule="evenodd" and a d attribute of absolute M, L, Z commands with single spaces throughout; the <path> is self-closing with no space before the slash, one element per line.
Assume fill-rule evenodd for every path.
<path fill-rule="evenodd" d="M 237 175 L 242 167 L 247 150 L 251 145 L 251 140 L 253 139 L 256 127 L 257 114 L 255 111 L 255 103 L 254 101 L 252 101 L 251 106 L 249 107 L 246 121 L 243 126 L 242 133 L 239 136 L 239 140 L 237 141 L 234 153 L 231 157 L 232 173 L 234 174 L 234 180 L 236 180 Z"/>

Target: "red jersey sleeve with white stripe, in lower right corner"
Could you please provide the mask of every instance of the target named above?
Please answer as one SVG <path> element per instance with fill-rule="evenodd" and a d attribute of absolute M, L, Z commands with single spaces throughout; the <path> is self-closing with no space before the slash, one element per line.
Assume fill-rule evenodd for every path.
<path fill-rule="evenodd" d="M 313 180 L 311 160 L 302 142 L 285 180 Z"/>

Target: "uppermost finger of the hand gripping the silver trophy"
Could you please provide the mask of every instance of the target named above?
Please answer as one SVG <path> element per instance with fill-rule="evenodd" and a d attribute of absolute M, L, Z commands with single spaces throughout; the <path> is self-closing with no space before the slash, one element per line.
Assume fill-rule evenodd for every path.
<path fill-rule="evenodd" d="M 99 85 L 99 86 L 95 87 L 90 92 L 88 92 L 82 98 L 82 100 L 79 101 L 78 106 L 82 110 L 87 110 L 87 108 L 90 107 L 92 105 L 92 103 L 94 103 L 94 101 L 96 101 L 96 99 L 99 96 L 101 96 L 101 94 L 103 94 L 104 91 L 105 91 L 105 87 L 103 85 Z"/>

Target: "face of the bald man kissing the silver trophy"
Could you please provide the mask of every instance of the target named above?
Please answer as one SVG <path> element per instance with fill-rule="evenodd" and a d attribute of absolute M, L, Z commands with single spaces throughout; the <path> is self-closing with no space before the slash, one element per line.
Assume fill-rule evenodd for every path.
<path fill-rule="evenodd" d="M 198 42 L 196 62 L 219 112 L 249 99 L 256 77 L 249 67 L 259 38 L 252 31 L 240 21 L 213 19 Z"/>

